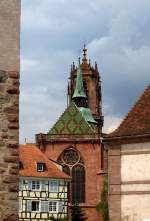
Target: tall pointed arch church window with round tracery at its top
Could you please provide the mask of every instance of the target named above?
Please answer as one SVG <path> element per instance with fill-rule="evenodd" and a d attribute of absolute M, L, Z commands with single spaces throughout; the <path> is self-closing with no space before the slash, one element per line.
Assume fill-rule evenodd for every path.
<path fill-rule="evenodd" d="M 73 147 L 67 148 L 58 158 L 63 171 L 71 176 L 69 199 L 72 203 L 85 202 L 85 168 L 81 155 Z"/>

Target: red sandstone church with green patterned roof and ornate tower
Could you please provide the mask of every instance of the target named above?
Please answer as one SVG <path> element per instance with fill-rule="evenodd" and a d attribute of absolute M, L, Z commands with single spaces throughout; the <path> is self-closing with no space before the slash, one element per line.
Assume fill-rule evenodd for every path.
<path fill-rule="evenodd" d="M 79 203 L 88 221 L 98 221 L 96 207 L 106 174 L 101 144 L 101 78 L 97 64 L 93 67 L 88 61 L 85 46 L 78 67 L 71 65 L 69 79 L 66 109 L 47 134 L 36 135 L 36 144 L 72 178 L 69 206 Z"/>

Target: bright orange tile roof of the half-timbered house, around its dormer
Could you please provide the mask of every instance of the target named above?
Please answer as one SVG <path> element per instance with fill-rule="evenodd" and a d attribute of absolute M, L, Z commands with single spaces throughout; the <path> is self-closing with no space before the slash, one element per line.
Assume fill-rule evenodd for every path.
<path fill-rule="evenodd" d="M 45 178 L 70 178 L 62 172 L 52 161 L 50 161 L 38 147 L 33 144 L 19 146 L 20 162 L 22 168 L 19 170 L 20 176 L 45 177 Z M 37 171 L 37 163 L 45 163 L 46 169 L 43 172 Z"/>

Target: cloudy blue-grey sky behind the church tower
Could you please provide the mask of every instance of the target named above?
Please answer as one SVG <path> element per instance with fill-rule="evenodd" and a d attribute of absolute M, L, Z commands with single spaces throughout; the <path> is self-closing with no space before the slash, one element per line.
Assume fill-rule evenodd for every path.
<path fill-rule="evenodd" d="M 102 78 L 104 132 L 150 82 L 149 0 L 22 0 L 20 142 L 47 133 L 66 107 L 84 42 Z"/>

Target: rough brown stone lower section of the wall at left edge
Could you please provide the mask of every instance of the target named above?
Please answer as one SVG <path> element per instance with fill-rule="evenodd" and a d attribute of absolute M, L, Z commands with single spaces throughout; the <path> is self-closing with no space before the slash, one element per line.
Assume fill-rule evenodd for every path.
<path fill-rule="evenodd" d="M 0 71 L 0 220 L 17 220 L 19 74 Z"/>

